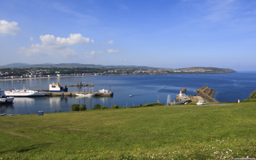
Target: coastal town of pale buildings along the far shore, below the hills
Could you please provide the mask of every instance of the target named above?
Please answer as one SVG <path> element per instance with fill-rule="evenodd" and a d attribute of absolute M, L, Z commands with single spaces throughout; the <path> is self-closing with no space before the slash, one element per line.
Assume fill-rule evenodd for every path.
<path fill-rule="evenodd" d="M 234 72 L 234 70 L 216 67 L 189 67 L 181 69 L 153 67 L 29 67 L 1 68 L 0 79 L 4 80 L 40 77 L 82 77 L 104 75 L 214 74 L 230 72 Z"/>

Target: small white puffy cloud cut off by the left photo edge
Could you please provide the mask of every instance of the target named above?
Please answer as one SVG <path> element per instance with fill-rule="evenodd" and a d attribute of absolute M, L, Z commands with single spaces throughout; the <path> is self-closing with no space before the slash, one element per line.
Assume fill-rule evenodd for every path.
<path fill-rule="evenodd" d="M 0 20 L 0 33 L 17 35 L 19 33 L 19 27 L 17 22 L 7 22 L 6 20 Z"/>

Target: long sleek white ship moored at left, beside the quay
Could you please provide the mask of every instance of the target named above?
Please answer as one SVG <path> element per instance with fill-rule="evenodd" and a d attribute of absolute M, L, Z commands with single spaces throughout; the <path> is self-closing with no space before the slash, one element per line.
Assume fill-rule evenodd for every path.
<path fill-rule="evenodd" d="M 8 90 L 4 92 L 6 96 L 12 97 L 34 97 L 34 96 L 44 96 L 47 92 L 40 92 L 36 90 L 29 90 L 26 88 L 22 88 L 22 90 Z"/>

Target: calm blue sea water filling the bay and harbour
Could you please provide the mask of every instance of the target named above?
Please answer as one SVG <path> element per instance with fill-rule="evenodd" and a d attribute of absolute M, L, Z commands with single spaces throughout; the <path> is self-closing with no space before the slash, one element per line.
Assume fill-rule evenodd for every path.
<path fill-rule="evenodd" d="M 73 103 L 86 104 L 87 109 L 93 109 L 95 104 L 111 107 L 136 106 L 157 102 L 158 96 L 162 103 L 167 102 L 168 95 L 175 99 L 180 88 L 187 88 L 187 95 L 195 95 L 194 90 L 209 86 L 216 90 L 218 102 L 236 102 L 246 99 L 256 90 L 256 72 L 237 72 L 232 74 L 172 74 L 147 76 L 106 76 L 106 77 L 69 77 L 48 79 L 24 79 L 15 81 L 0 81 L 2 90 L 48 89 L 49 83 L 59 82 L 62 86 L 77 84 L 79 81 L 93 83 L 95 91 L 111 88 L 113 97 L 15 97 L 13 104 L 0 105 L 0 113 L 26 114 L 38 111 L 63 112 L 71 111 Z M 69 91 L 79 91 L 69 88 Z M 133 95 L 133 97 L 129 97 Z"/>

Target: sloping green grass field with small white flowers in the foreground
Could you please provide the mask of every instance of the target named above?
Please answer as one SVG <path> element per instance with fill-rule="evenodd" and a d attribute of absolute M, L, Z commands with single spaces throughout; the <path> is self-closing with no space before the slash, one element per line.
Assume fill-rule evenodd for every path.
<path fill-rule="evenodd" d="M 0 159 L 256 158 L 256 102 L 0 117 Z"/>

